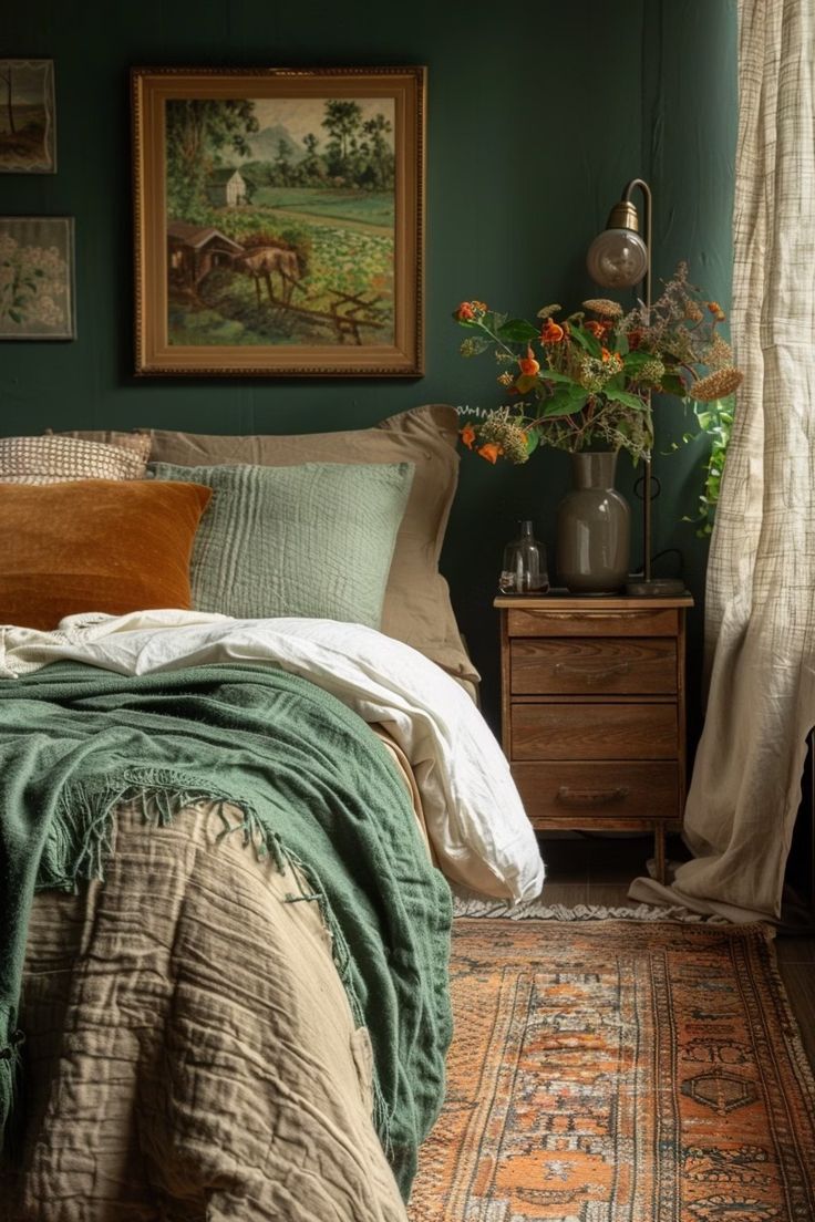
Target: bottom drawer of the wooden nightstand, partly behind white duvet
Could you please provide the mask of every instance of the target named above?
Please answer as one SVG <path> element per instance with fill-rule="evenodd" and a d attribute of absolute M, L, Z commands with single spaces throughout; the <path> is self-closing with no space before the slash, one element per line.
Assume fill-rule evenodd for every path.
<path fill-rule="evenodd" d="M 677 764 L 513 764 L 527 814 L 550 827 L 679 818 Z"/>

